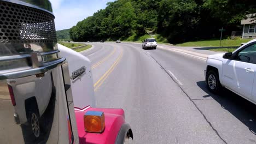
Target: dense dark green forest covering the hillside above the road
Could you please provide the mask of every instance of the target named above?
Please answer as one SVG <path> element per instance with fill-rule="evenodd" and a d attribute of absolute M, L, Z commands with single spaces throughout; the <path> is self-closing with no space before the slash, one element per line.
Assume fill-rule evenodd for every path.
<path fill-rule="evenodd" d="M 218 38 L 242 31 L 240 21 L 256 13 L 255 0 L 118 0 L 70 29 L 74 41 L 126 39 L 158 33 L 170 43 Z"/>

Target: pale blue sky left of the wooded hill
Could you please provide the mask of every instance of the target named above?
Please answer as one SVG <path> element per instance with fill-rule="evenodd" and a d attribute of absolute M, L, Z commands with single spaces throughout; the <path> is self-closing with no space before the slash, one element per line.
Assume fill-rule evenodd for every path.
<path fill-rule="evenodd" d="M 77 25 L 77 22 L 106 8 L 107 2 L 113 1 L 115 0 L 50 0 L 55 15 L 56 31 Z"/>

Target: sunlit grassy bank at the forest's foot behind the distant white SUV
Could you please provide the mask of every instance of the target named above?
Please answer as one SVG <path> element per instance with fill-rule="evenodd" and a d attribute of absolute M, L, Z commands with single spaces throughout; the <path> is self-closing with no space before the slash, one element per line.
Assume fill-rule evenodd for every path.
<path fill-rule="evenodd" d="M 132 42 L 141 43 L 144 39 L 148 39 L 148 38 L 155 38 L 156 41 L 158 41 L 158 43 L 168 43 L 167 39 L 162 37 L 160 34 L 155 34 L 155 35 L 145 34 L 141 36 L 133 34 L 128 38 L 121 38 L 121 41 L 132 41 Z"/>

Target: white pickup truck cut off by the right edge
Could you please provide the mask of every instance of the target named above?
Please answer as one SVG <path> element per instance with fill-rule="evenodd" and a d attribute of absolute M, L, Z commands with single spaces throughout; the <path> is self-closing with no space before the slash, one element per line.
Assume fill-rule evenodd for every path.
<path fill-rule="evenodd" d="M 256 104 L 256 39 L 234 52 L 208 56 L 205 77 L 208 89 L 219 93 L 225 87 Z"/>

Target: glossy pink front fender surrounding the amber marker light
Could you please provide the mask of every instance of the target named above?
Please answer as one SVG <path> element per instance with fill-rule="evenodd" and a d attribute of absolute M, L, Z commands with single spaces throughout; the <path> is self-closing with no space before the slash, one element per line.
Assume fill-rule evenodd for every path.
<path fill-rule="evenodd" d="M 87 133 L 84 129 L 84 114 L 86 111 L 103 111 L 105 115 L 105 129 L 103 133 Z M 77 119 L 78 136 L 80 143 L 116 143 L 118 137 L 122 137 L 123 125 L 125 124 L 123 109 L 101 109 L 85 107 L 75 108 Z M 129 129 L 132 137 L 131 129 Z M 125 134 L 126 135 L 126 134 Z"/>

